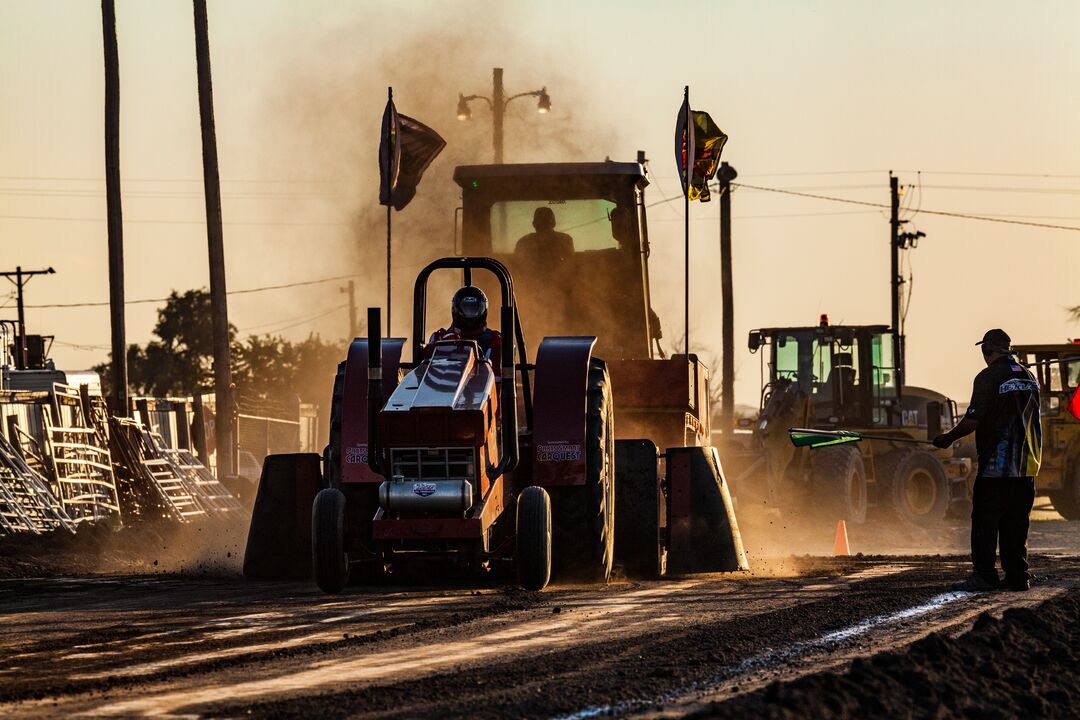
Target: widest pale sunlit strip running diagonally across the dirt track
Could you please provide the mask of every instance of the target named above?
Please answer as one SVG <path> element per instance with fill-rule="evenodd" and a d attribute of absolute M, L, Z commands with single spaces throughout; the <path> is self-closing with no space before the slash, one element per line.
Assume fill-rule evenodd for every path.
<path fill-rule="evenodd" d="M 555 608 L 532 608 L 499 619 L 483 617 L 455 628 L 438 628 L 410 634 L 407 638 L 372 647 L 368 652 L 336 651 L 312 662 L 278 664 L 260 671 L 258 679 L 251 675 L 211 678 L 212 682 L 180 681 L 165 683 L 149 692 L 133 693 L 118 701 L 77 703 L 80 711 L 93 716 L 172 715 L 208 712 L 231 715 L 238 704 L 248 706 L 262 698 L 299 696 L 301 707 L 296 715 L 325 714 L 323 708 L 308 706 L 308 697 L 325 698 L 327 693 L 342 685 L 365 688 L 383 697 L 399 697 L 395 692 L 402 678 L 420 685 L 434 683 L 430 690 L 437 697 L 454 698 L 461 695 L 458 678 L 471 674 L 471 668 L 483 668 L 481 675 L 499 675 L 503 666 L 528 665 L 535 657 L 565 655 L 573 657 L 603 653 L 629 642 L 636 647 L 644 639 L 652 642 L 658 633 L 679 636 L 699 619 L 723 615 L 729 623 L 740 617 L 759 616 L 770 611 L 791 611 L 802 604 L 828 604 L 831 598 L 846 587 L 872 583 L 881 578 L 910 571 L 910 566 L 895 563 L 868 563 L 859 572 L 832 580 L 784 579 L 731 580 L 730 575 L 692 578 L 683 581 L 650 583 L 644 586 L 592 588 L 586 592 L 556 592 L 545 594 Z M 516 660 L 522 658 L 522 660 Z M 231 674 L 235 675 L 235 674 Z M 449 684 L 444 688 L 443 683 Z M 390 689 L 391 691 L 388 693 Z M 365 693 L 366 694 L 366 693 Z M 406 691 L 406 694 L 413 694 Z M 427 696 L 421 693 L 421 695 Z M 319 701 L 322 703 L 322 701 Z M 451 699 L 450 705 L 454 705 Z M 356 703 L 338 704 L 335 697 L 327 706 L 357 708 Z M 361 707 L 378 715 L 379 706 L 364 699 Z M 403 707 L 391 701 L 394 715 Z M 404 716 L 453 715 L 453 708 L 436 703 L 435 707 L 405 704 Z M 291 714 L 289 701 L 284 705 L 256 705 L 256 714 Z M 467 703 L 473 715 L 475 707 Z M 76 709 L 72 707 L 71 709 Z M 330 715 L 334 712 L 332 711 Z"/>

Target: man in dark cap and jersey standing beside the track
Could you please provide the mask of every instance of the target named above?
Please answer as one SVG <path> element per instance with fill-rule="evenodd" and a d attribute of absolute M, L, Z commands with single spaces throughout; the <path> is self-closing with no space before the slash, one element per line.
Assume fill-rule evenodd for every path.
<path fill-rule="evenodd" d="M 957 589 L 1026 590 L 1028 516 L 1035 503 L 1035 476 L 1042 459 L 1039 383 L 1012 355 L 1002 329 L 987 330 L 982 345 L 986 369 L 975 376 L 971 405 L 956 427 L 933 439 L 947 448 L 975 433 L 978 474 L 971 507 L 971 562 L 974 572 Z M 994 567 L 1000 542 L 1004 583 Z"/>

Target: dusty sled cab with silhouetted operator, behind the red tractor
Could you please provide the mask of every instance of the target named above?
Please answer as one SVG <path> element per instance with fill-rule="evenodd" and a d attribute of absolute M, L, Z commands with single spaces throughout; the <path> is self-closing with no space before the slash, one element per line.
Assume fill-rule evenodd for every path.
<path fill-rule="evenodd" d="M 600 356 L 652 357 L 660 327 L 649 309 L 643 165 L 469 165 L 454 178 L 460 253 L 513 273 L 526 342 L 595 335 Z"/>

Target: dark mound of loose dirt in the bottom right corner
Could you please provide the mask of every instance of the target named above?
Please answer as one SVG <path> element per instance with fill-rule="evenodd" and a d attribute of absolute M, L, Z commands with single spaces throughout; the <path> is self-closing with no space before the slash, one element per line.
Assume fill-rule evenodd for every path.
<path fill-rule="evenodd" d="M 966 635 L 855 660 L 714 703 L 694 718 L 1075 718 L 1080 712 L 1080 590 L 1036 609 L 984 613 Z"/>

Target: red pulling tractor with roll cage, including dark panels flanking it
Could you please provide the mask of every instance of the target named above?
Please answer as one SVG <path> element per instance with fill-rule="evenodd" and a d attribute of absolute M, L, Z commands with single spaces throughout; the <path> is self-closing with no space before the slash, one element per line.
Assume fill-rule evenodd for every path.
<path fill-rule="evenodd" d="M 463 285 L 474 271 L 495 277 L 501 358 L 471 340 L 424 345 L 436 270 L 457 271 Z M 596 338 L 545 337 L 530 362 L 502 262 L 430 263 L 416 280 L 413 320 L 413 362 L 404 363 L 405 341 L 381 338 L 379 311 L 369 311 L 368 337 L 339 367 L 322 458 L 267 459 L 246 575 L 313 569 L 322 589 L 338 592 L 350 578 L 377 583 L 407 563 L 442 560 L 513 566 L 524 587 L 540 589 L 553 574 L 604 582 L 617 560 L 650 576 L 669 555 L 681 570 L 745 568 L 715 450 L 670 449 L 662 476 L 649 440 L 616 440 L 615 391 Z"/>

